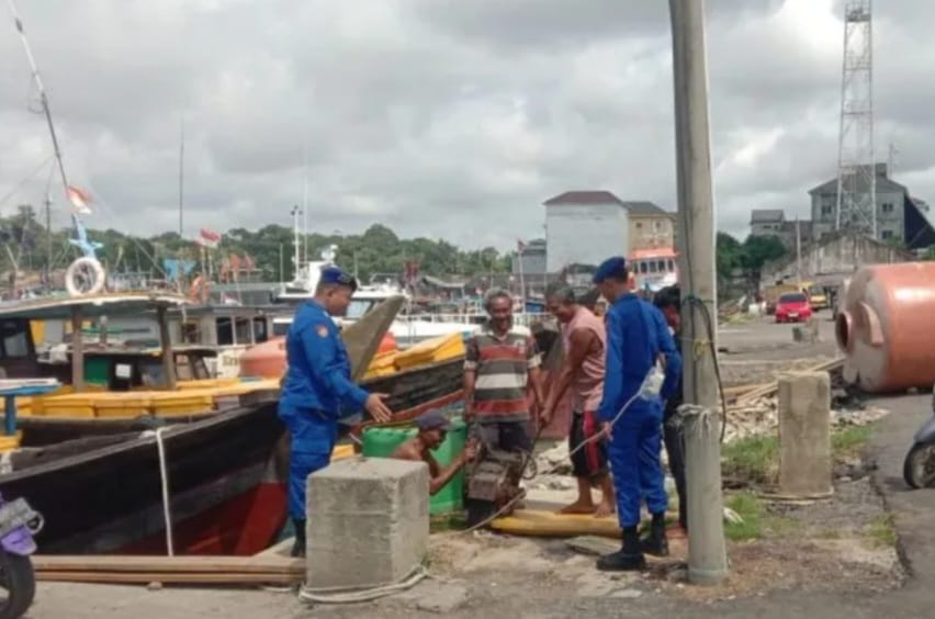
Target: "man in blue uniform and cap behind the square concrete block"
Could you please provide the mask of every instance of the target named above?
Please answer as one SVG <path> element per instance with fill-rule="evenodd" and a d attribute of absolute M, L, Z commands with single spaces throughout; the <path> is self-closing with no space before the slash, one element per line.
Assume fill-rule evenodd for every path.
<path fill-rule="evenodd" d="M 292 436 L 289 464 L 289 515 L 295 526 L 293 556 L 305 555 L 305 483 L 328 465 L 338 435 L 338 418 L 361 408 L 376 421 L 391 410 L 381 395 L 351 382 L 347 349 L 331 316 L 342 316 L 357 281 L 338 269 L 322 269 L 315 297 L 298 307 L 285 337 L 288 369 L 279 416 Z"/>

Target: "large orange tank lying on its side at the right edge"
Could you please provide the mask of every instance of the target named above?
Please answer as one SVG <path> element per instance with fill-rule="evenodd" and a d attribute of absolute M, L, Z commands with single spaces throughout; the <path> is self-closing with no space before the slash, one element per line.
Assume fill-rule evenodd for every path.
<path fill-rule="evenodd" d="M 935 262 L 863 267 L 835 322 L 845 379 L 869 393 L 935 383 Z"/>

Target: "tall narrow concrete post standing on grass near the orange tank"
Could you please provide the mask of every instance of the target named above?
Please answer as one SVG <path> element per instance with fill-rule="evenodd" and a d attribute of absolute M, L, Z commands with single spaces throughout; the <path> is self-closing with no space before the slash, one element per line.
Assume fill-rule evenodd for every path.
<path fill-rule="evenodd" d="M 789 372 L 778 383 L 779 494 L 830 496 L 831 379 L 827 372 Z"/>

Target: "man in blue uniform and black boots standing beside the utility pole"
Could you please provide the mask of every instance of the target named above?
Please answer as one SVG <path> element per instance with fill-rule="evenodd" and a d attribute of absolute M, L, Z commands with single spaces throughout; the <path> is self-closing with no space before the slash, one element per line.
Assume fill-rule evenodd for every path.
<path fill-rule="evenodd" d="M 610 435 L 608 457 L 617 491 L 617 514 L 623 529 L 620 551 L 601 556 L 598 570 L 642 570 L 643 552 L 668 554 L 665 510 L 668 497 L 662 470 L 663 399 L 674 387 L 672 376 L 681 359 L 662 313 L 633 294 L 623 258 L 610 258 L 598 267 L 594 283 L 611 304 L 607 312 L 607 363 L 604 399 L 597 410 Z M 658 395 L 638 395 L 643 381 L 657 364 L 665 365 L 666 381 Z M 629 406 L 620 414 L 627 403 Z M 619 415 L 619 418 L 618 418 Z M 645 498 L 653 516 L 649 538 L 640 541 L 640 506 Z"/>

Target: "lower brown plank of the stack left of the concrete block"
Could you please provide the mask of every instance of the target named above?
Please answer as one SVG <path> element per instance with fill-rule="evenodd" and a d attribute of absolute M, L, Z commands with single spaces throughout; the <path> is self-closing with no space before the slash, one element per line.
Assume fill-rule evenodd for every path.
<path fill-rule="evenodd" d="M 178 583 L 204 585 L 292 585 L 301 583 L 300 574 L 245 574 L 245 573 L 180 573 L 168 572 L 36 572 L 37 581 L 67 583 L 148 584 Z"/>

